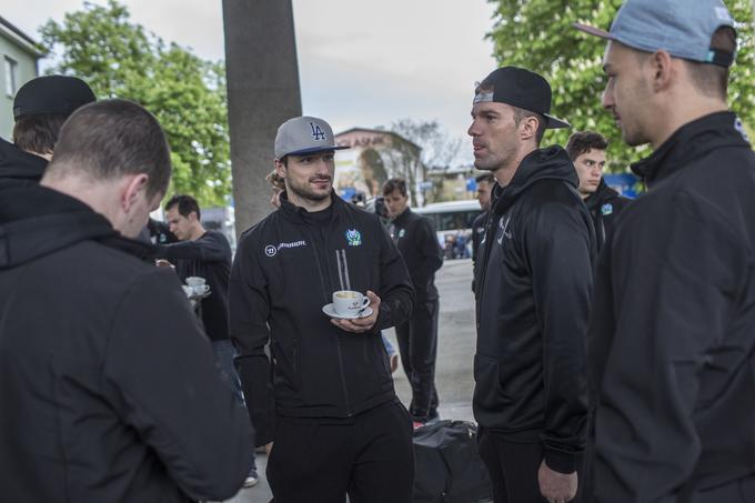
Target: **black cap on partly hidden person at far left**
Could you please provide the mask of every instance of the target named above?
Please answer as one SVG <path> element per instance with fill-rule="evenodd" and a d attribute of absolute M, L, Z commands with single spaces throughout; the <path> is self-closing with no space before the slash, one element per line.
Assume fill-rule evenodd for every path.
<path fill-rule="evenodd" d="M 91 88 L 81 79 L 66 76 L 38 77 L 21 85 L 16 93 L 13 119 L 18 121 L 40 113 L 70 115 L 79 107 L 95 100 Z"/>

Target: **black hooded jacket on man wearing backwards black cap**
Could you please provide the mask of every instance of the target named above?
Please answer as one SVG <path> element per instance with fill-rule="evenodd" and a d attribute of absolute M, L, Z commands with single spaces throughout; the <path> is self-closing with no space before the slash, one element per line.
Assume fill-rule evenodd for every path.
<path fill-rule="evenodd" d="M 577 184 L 561 147 L 524 158 L 496 185 L 475 280 L 475 419 L 513 441 L 542 441 L 562 473 L 576 469 L 587 420 L 595 237 Z"/>

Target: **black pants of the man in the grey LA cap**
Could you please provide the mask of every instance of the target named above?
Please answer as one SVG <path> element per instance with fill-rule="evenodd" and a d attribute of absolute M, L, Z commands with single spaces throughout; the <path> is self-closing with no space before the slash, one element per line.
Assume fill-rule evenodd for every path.
<path fill-rule="evenodd" d="M 279 418 L 268 461 L 275 503 L 411 503 L 412 423 L 397 401 L 350 424 Z"/>

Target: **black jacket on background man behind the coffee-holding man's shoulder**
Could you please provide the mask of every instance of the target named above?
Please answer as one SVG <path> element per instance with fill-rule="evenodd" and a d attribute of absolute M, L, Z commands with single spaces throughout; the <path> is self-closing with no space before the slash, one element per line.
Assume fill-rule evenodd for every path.
<path fill-rule="evenodd" d="M 396 247 L 414 285 L 416 302 L 437 300 L 435 271 L 443 265 L 443 251 L 432 221 L 406 208 L 393 220 Z"/>

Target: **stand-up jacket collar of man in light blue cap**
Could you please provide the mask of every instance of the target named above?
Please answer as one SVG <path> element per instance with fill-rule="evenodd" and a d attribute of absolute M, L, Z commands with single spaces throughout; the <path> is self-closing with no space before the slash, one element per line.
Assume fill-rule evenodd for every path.
<path fill-rule="evenodd" d="M 650 157 L 632 164 L 632 171 L 650 188 L 711 150 L 749 148 L 742 121 L 733 112 L 716 112 L 684 124 Z"/>

